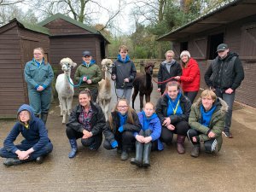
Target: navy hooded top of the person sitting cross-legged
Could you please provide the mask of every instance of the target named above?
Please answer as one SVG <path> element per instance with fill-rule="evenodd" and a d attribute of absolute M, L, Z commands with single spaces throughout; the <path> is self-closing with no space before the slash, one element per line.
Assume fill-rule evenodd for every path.
<path fill-rule="evenodd" d="M 17 115 L 24 110 L 28 111 L 31 115 L 28 128 L 26 128 L 25 125 L 20 121 L 16 122 L 13 129 L 9 132 L 8 137 L 6 137 L 3 142 L 4 148 L 14 154 L 15 151 L 18 150 L 14 142 L 20 133 L 25 138 L 21 143 L 32 144 L 34 151 L 44 148 L 44 146 L 49 143 L 49 137 L 44 122 L 35 117 L 32 107 L 26 104 L 23 104 L 19 108 Z"/>

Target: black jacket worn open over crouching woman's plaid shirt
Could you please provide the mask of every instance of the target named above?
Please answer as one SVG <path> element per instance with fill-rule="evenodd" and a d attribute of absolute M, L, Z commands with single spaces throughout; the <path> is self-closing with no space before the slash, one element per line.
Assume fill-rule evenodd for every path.
<path fill-rule="evenodd" d="M 91 123 L 91 133 L 95 136 L 97 134 L 102 134 L 102 129 L 106 125 L 105 115 L 102 112 L 102 108 L 98 106 L 95 102 L 90 102 L 92 108 L 92 116 L 90 119 Z M 78 132 L 83 132 L 83 125 L 79 123 L 79 114 L 82 113 L 82 106 L 77 105 L 73 112 L 70 114 L 67 126 L 71 127 L 73 130 Z"/>

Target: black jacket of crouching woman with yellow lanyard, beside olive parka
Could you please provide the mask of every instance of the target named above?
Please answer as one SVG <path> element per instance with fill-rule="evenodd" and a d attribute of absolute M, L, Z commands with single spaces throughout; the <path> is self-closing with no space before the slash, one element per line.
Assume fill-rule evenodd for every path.
<path fill-rule="evenodd" d="M 180 101 L 181 108 L 183 109 L 183 114 L 181 115 L 172 114 L 170 116 L 171 124 L 176 124 L 177 122 L 180 122 L 183 120 L 189 122 L 191 102 L 186 96 L 183 96 L 183 95 L 180 97 L 179 101 Z M 168 97 L 164 95 L 160 97 L 155 107 L 155 113 L 159 117 L 161 124 L 164 122 L 165 117 L 167 117 L 167 109 L 168 109 Z"/>

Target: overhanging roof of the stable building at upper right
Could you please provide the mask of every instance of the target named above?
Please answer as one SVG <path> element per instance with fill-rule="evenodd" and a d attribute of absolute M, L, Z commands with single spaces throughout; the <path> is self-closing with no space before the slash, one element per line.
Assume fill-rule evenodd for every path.
<path fill-rule="evenodd" d="M 180 26 L 172 32 L 168 32 L 156 40 L 175 41 L 181 38 L 188 38 L 191 34 L 204 32 L 218 26 L 224 26 L 230 22 L 240 20 L 247 16 L 255 15 L 255 10 L 255 0 L 230 0 L 222 6 L 212 9 L 206 15 L 202 15 L 186 25 Z"/>

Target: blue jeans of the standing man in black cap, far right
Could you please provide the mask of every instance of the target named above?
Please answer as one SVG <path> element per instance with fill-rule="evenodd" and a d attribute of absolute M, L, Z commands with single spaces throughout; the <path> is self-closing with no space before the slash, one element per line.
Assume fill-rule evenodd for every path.
<path fill-rule="evenodd" d="M 232 109 L 233 109 L 233 103 L 235 101 L 235 90 L 231 94 L 226 94 L 224 90 L 220 90 L 218 88 L 215 89 L 215 93 L 218 97 L 222 98 L 224 102 L 228 105 L 228 112 L 225 116 L 225 127 L 224 131 L 230 132 L 230 125 L 231 125 L 231 119 L 232 119 Z"/>

